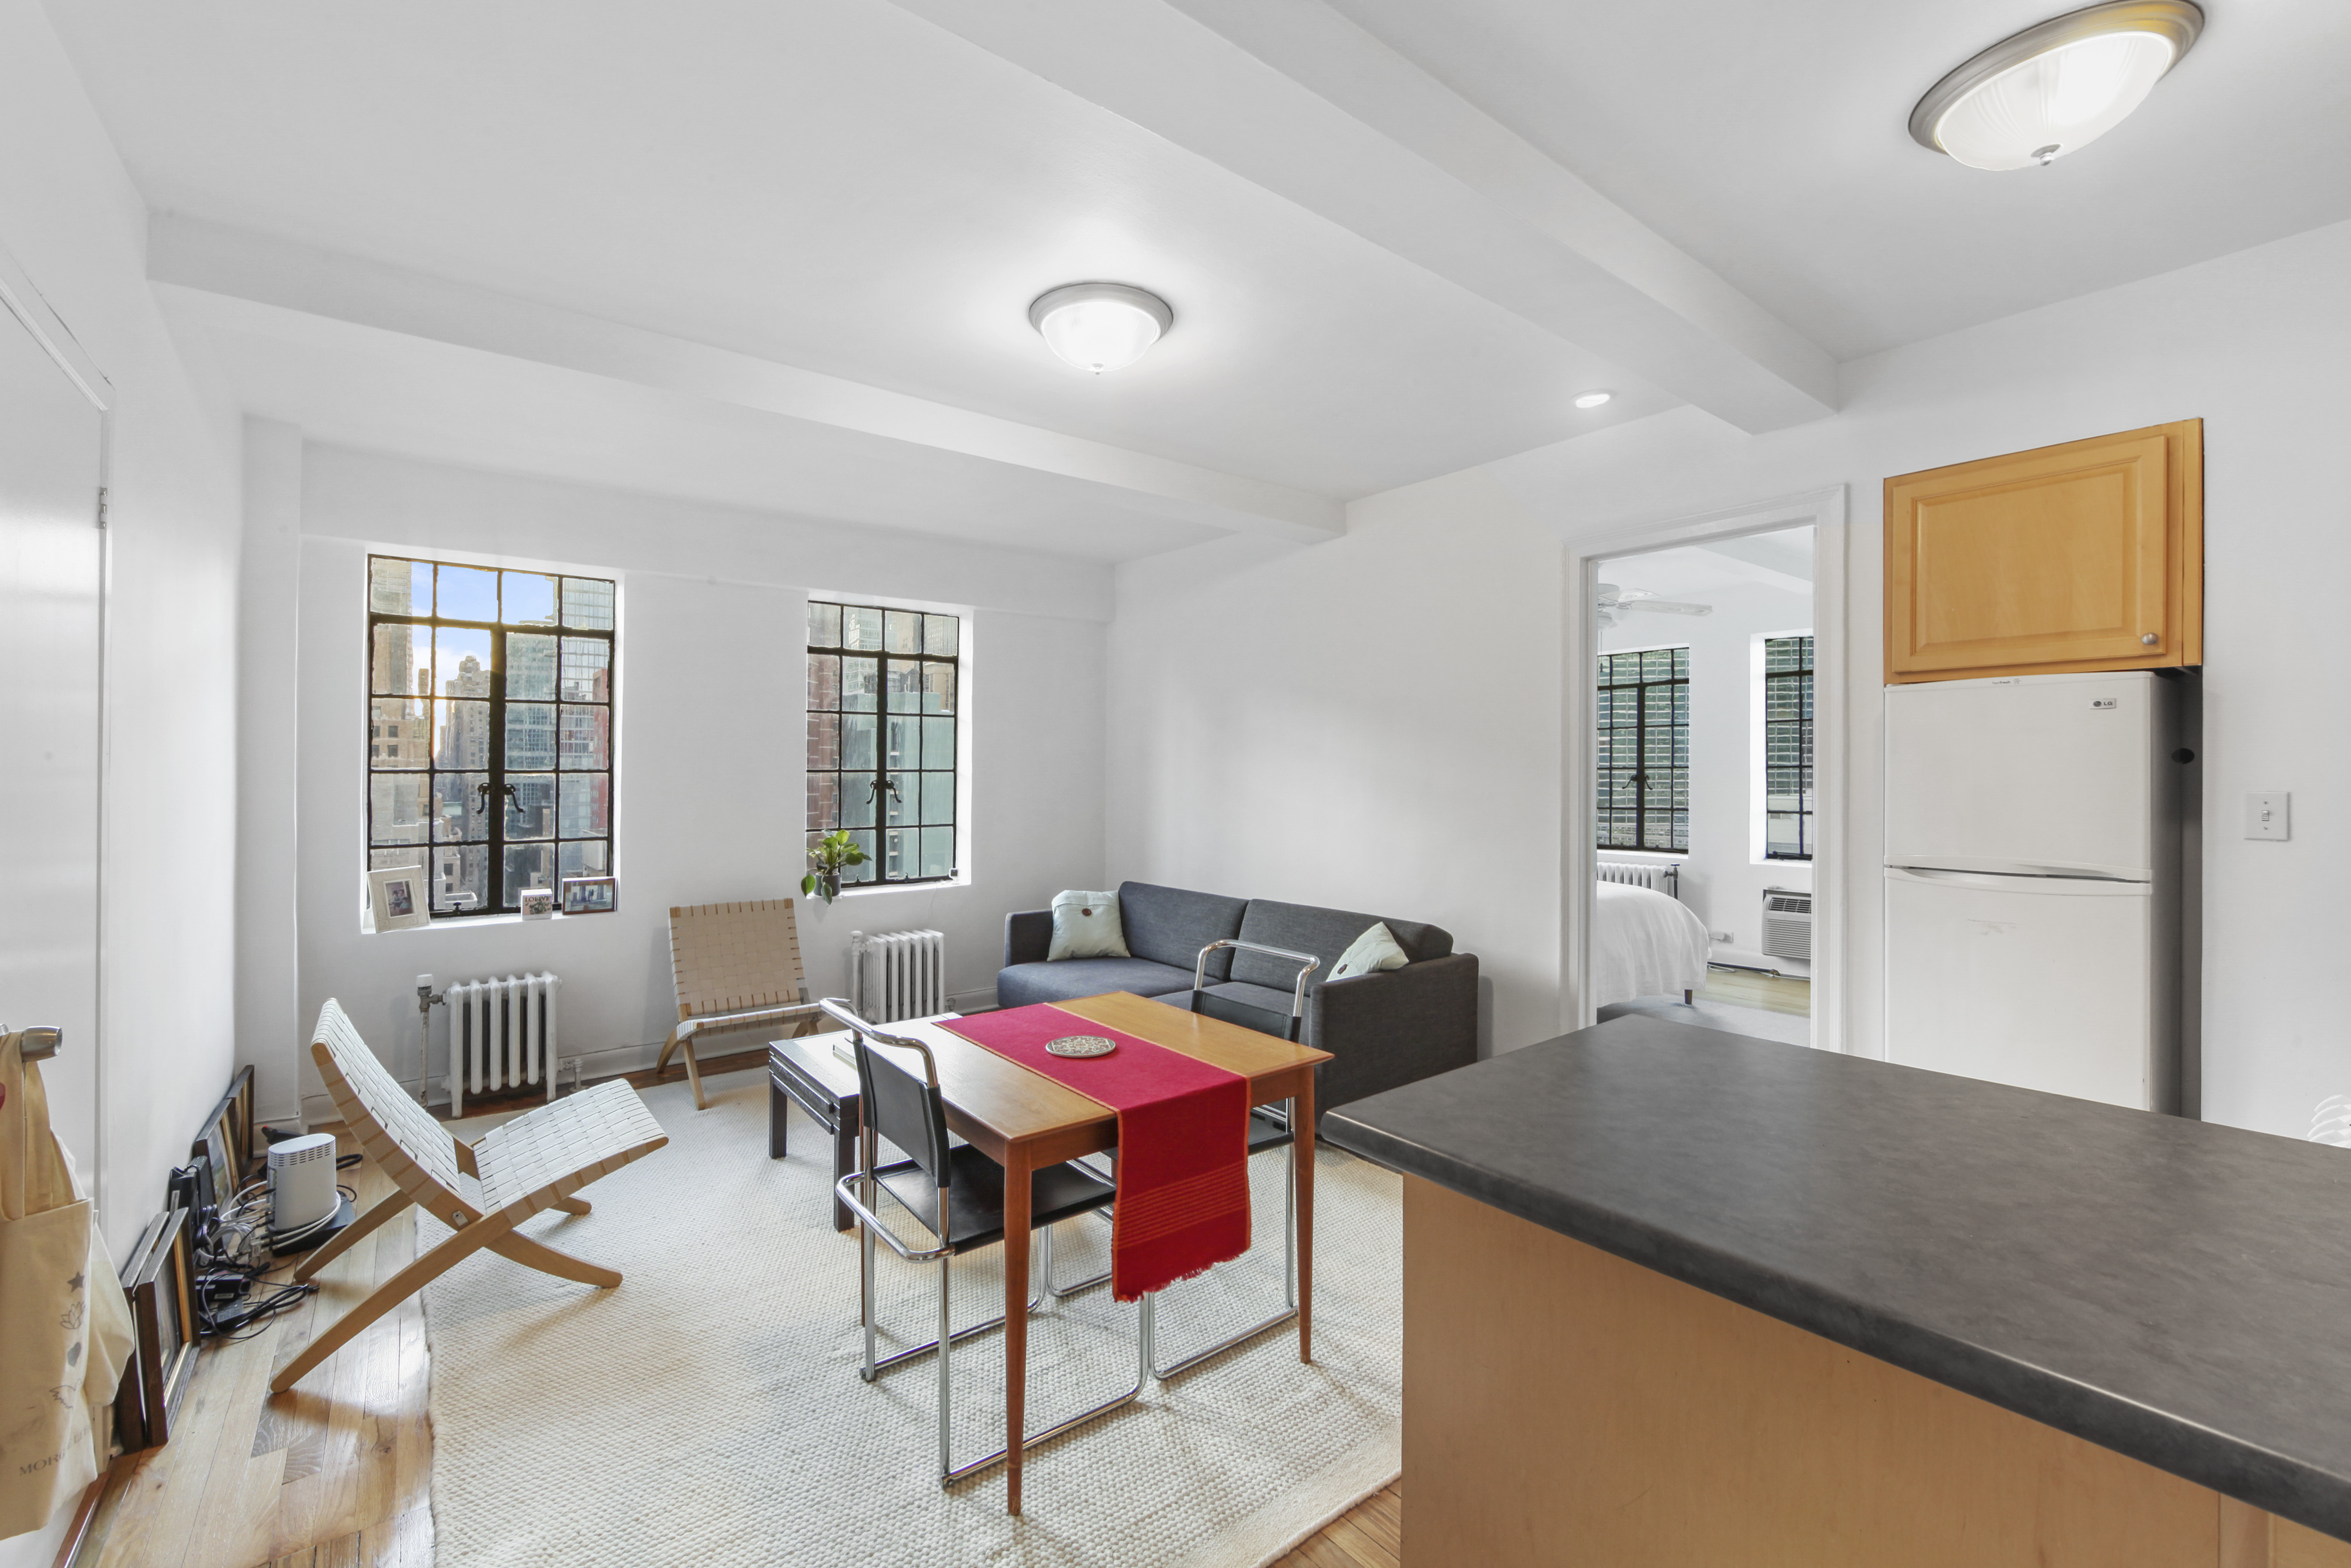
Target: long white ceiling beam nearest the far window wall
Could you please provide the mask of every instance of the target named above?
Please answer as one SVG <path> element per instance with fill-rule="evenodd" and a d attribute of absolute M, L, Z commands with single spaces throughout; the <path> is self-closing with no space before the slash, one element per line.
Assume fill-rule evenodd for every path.
<path fill-rule="evenodd" d="M 1119 505 L 1180 522 L 1302 543 L 1347 531 L 1345 505 L 1335 496 L 1023 425 L 200 219 L 158 214 L 150 221 L 148 277 L 195 294 L 1081 480 L 1103 487 Z"/>

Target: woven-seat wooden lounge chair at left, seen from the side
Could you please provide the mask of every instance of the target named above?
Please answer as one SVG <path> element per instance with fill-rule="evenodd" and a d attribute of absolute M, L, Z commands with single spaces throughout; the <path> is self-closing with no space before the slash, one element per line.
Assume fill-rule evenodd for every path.
<path fill-rule="evenodd" d="M 541 1105 L 468 1145 L 400 1088 L 331 997 L 320 1009 L 310 1056 L 353 1138 L 400 1190 L 303 1258 L 294 1279 L 310 1279 L 409 1204 L 456 1227 L 456 1234 L 418 1253 L 310 1340 L 270 1378 L 273 1394 L 284 1394 L 362 1328 L 484 1248 L 583 1286 L 621 1284 L 618 1269 L 560 1253 L 517 1234 L 515 1227 L 548 1208 L 588 1213 L 588 1204 L 571 1197 L 574 1192 L 670 1140 L 635 1088 L 618 1079 L 597 1084 Z"/>

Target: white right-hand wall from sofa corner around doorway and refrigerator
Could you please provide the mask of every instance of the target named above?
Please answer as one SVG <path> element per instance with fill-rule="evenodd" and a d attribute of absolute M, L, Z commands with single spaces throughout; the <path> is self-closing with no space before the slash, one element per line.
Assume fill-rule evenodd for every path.
<path fill-rule="evenodd" d="M 1312 550 L 1124 567 L 1112 872 L 1427 914 L 1498 954 L 1498 1044 L 1547 1037 L 1559 961 L 1521 938 L 1556 933 L 1561 755 L 1585 769 L 1589 741 L 1514 701 L 1559 679 L 1542 534 L 1615 541 L 1848 484 L 1846 1044 L 1874 1053 L 1883 480 L 2201 416 L 2203 1110 L 2299 1135 L 2351 1091 L 2330 994 L 2351 729 L 2327 696 L 2351 583 L 2346 277 L 2335 226 L 1860 360 L 1810 425 L 1742 435 L 1679 409 L 1359 501 L 1347 538 Z M 1472 639 L 1491 639 L 1474 672 Z M 2248 790 L 2295 792 L 2292 842 L 2243 839 Z"/>

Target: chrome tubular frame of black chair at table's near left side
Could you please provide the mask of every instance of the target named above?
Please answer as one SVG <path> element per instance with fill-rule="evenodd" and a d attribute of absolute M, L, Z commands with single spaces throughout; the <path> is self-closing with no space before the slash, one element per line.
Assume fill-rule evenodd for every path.
<path fill-rule="evenodd" d="M 922 1070 L 924 1070 L 924 1086 L 931 1088 L 931 1091 L 938 1091 L 938 1058 L 931 1056 L 931 1046 L 926 1046 L 919 1039 L 905 1037 L 905 1034 L 886 1034 L 884 1030 L 872 1027 L 870 1023 L 865 1023 L 863 1018 L 858 1018 L 856 1013 L 851 1013 L 849 1004 L 844 999 L 839 999 L 839 997 L 825 997 L 818 1006 L 823 1006 L 823 1011 L 828 1016 L 832 1016 L 835 1020 L 839 1020 L 851 1032 L 851 1039 L 856 1041 L 858 1051 L 865 1051 L 868 1056 L 870 1056 L 870 1048 L 872 1048 L 868 1041 L 879 1041 L 884 1046 L 896 1046 L 900 1051 L 915 1051 L 915 1053 L 919 1053 L 922 1056 Z M 870 1067 L 868 1067 L 868 1072 L 870 1072 Z M 1002 1465 L 1004 1455 L 1009 1453 L 1006 1448 L 997 1448 L 994 1453 L 990 1453 L 985 1458 L 978 1458 L 978 1460 L 971 1460 L 969 1465 L 957 1465 L 955 1462 L 955 1453 L 952 1453 L 955 1382 L 950 1378 L 950 1366 L 947 1366 L 950 1359 L 952 1359 L 957 1340 L 969 1340 L 976 1333 L 985 1333 L 990 1328 L 1002 1328 L 1004 1326 L 1004 1316 L 997 1314 L 997 1316 L 987 1319 L 985 1324 L 973 1324 L 969 1328 L 952 1328 L 950 1326 L 950 1291 L 952 1291 L 955 1248 L 947 1244 L 945 1229 L 931 1232 L 933 1237 L 938 1237 L 938 1246 L 929 1246 L 929 1248 L 907 1246 L 882 1220 L 882 1215 L 875 1213 L 872 1204 L 879 1204 L 879 1199 L 882 1199 L 882 1182 L 879 1182 L 879 1175 L 877 1175 L 877 1168 L 879 1168 L 879 1135 L 875 1133 L 872 1119 L 868 1119 L 868 1117 L 860 1117 L 860 1126 L 858 1126 L 858 1164 L 860 1164 L 858 1171 L 851 1171 L 844 1178 L 839 1178 L 837 1182 L 832 1182 L 832 1192 L 842 1199 L 842 1204 L 849 1206 L 849 1213 L 853 1213 L 858 1218 L 858 1232 L 860 1232 L 860 1237 L 858 1237 L 858 1251 L 860 1251 L 860 1286 L 863 1286 L 863 1312 L 860 1312 L 860 1316 L 865 1319 L 863 1321 L 863 1328 L 865 1328 L 865 1363 L 858 1368 L 858 1378 L 863 1378 L 865 1382 L 875 1382 L 886 1368 L 898 1366 L 900 1361 L 910 1361 L 915 1356 L 924 1356 L 924 1354 L 938 1352 L 938 1486 L 940 1486 L 940 1490 L 945 1490 L 947 1486 L 955 1486 L 957 1481 L 966 1481 L 966 1479 L 980 1474 L 983 1469 L 992 1469 L 992 1467 Z M 950 1201 L 947 1201 L 947 1182 L 940 1180 L 938 1182 L 938 1222 L 940 1222 L 940 1227 L 947 1225 L 947 1206 L 950 1206 Z M 912 1213 L 912 1211 L 907 1211 L 907 1213 Z M 922 1225 L 922 1218 L 917 1215 L 915 1222 Z M 924 1229 L 931 1229 L 931 1227 L 924 1225 Z M 936 1338 L 931 1338 L 931 1340 L 926 1340 L 922 1345 L 915 1345 L 912 1349 L 903 1349 L 903 1352 L 898 1352 L 893 1356 L 879 1359 L 879 1361 L 875 1359 L 875 1309 L 872 1309 L 872 1300 L 875 1300 L 875 1237 L 882 1237 L 882 1241 L 893 1253 L 898 1253 L 900 1258 L 905 1258 L 907 1262 L 933 1262 L 933 1260 L 938 1262 L 938 1331 L 936 1331 Z M 1053 1227 L 1051 1225 L 1041 1227 L 1041 1237 L 1039 1237 L 1037 1251 L 1041 1253 L 1041 1258 L 1039 1258 L 1041 1269 L 1039 1272 L 1044 1274 L 1046 1281 L 1051 1281 L 1051 1276 L 1053 1276 Z M 1032 1293 L 1030 1295 L 1030 1309 L 1034 1309 L 1037 1305 L 1039 1305 L 1039 1295 Z M 1086 1410 L 1079 1410 L 1077 1415 L 1070 1415 L 1067 1420 L 1053 1422 L 1044 1432 L 1023 1432 L 1020 1434 L 1020 1450 L 1023 1453 L 1027 1453 L 1030 1448 L 1034 1448 L 1039 1443 L 1049 1443 L 1049 1441 L 1053 1441 L 1056 1436 L 1060 1436 L 1065 1432 L 1074 1432 L 1077 1427 L 1084 1427 L 1086 1422 L 1091 1422 L 1098 1415 L 1110 1415 L 1112 1410 L 1117 1410 L 1121 1406 L 1131 1406 L 1136 1399 L 1143 1396 L 1143 1389 L 1147 1387 L 1150 1373 L 1152 1373 L 1152 1298 L 1150 1295 L 1145 1295 L 1138 1302 L 1136 1328 L 1138 1328 L 1138 1333 L 1136 1333 L 1136 1342 L 1138 1342 L 1136 1385 L 1131 1389 L 1126 1389 L 1124 1394 L 1117 1394 L 1112 1399 L 1105 1399 L 1098 1406 L 1091 1406 Z"/>

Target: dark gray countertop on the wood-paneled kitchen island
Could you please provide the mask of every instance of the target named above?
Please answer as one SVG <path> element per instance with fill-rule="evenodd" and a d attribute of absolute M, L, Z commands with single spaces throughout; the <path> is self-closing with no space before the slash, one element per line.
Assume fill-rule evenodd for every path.
<path fill-rule="evenodd" d="M 2351 1150 L 1646 1016 L 1324 1138 L 2351 1540 Z"/>

